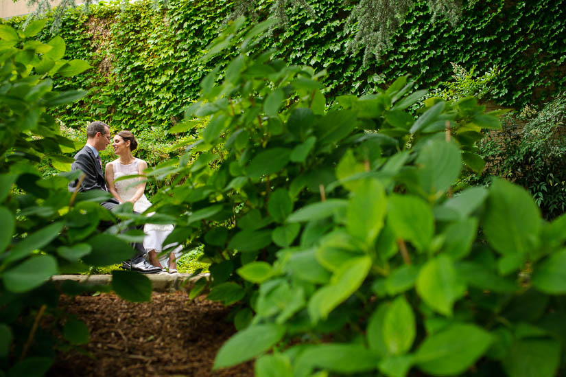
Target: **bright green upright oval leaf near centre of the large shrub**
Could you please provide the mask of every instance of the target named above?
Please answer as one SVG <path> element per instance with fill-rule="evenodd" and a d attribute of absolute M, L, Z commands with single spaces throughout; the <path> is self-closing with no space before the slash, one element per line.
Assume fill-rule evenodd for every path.
<path fill-rule="evenodd" d="M 384 227 L 386 209 L 384 186 L 376 179 L 365 180 L 348 201 L 346 229 L 352 236 L 370 245 Z"/>

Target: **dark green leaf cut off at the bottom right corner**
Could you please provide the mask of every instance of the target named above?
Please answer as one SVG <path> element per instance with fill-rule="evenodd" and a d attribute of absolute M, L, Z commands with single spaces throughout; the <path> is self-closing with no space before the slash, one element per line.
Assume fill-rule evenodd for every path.
<path fill-rule="evenodd" d="M 553 339 L 523 339 L 511 345 L 502 364 L 509 377 L 554 377 L 560 352 Z"/>

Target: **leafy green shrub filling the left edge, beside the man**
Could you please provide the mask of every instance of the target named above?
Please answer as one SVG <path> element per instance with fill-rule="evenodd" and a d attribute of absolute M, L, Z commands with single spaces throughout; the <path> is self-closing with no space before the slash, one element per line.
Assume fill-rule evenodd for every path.
<path fill-rule="evenodd" d="M 98 230 L 101 221 L 115 221 L 98 204 L 106 193 L 69 192 L 69 181 L 80 172 L 43 176 L 40 171 L 40 163 L 68 170 L 73 159 L 67 154 L 75 150 L 47 110 L 86 95 L 56 90 L 54 82 L 90 67 L 83 60 L 63 60 L 65 43 L 59 36 L 47 43 L 30 39 L 44 25 L 33 21 L 23 31 L 0 25 L 0 374 L 6 376 L 42 376 L 56 347 L 89 341 L 89 329 L 60 311 L 58 297 L 94 287 L 58 287 L 48 282 L 52 275 L 89 271 L 89 262 L 104 266 L 133 254 L 121 240 L 126 236 Z M 115 288 L 139 301 L 151 283 L 143 276 L 138 280 L 135 288 Z M 37 327 L 44 315 L 52 316 L 54 325 Z"/>

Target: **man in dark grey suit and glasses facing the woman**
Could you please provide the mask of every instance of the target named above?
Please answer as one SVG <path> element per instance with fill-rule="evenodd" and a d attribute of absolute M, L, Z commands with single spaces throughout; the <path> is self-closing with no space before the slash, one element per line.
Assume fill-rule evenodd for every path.
<path fill-rule="evenodd" d="M 104 181 L 104 173 L 102 172 L 102 161 L 98 154 L 99 151 L 105 150 L 108 144 L 110 144 L 110 126 L 108 124 L 97 121 L 86 127 L 86 145 L 75 155 L 75 162 L 71 165 L 71 171 L 82 170 L 85 174 L 80 187 L 78 187 L 79 192 L 89 190 L 108 192 L 106 181 Z M 69 183 L 70 192 L 77 190 L 79 181 L 77 179 Z M 115 198 L 110 198 L 108 201 L 100 203 L 106 209 L 113 209 L 119 204 L 119 201 Z M 152 266 L 143 258 L 145 249 L 139 242 L 134 243 L 133 246 L 137 252 L 132 259 L 123 262 L 122 266 L 124 268 L 141 273 L 158 273 L 161 271 L 159 267 Z"/>

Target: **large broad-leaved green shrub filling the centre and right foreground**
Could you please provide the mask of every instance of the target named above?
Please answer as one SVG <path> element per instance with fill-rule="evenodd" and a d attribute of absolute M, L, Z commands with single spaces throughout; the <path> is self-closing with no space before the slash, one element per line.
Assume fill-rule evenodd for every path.
<path fill-rule="evenodd" d="M 213 262 L 191 297 L 208 286 L 209 299 L 235 304 L 240 331 L 215 367 L 257 358 L 266 375 L 523 376 L 534 347 L 528 360 L 556 375 L 563 343 L 548 323 L 566 316 L 564 218 L 546 222 L 502 180 L 453 193 L 497 116 L 475 98 L 429 98 L 415 118 L 407 77 L 320 110 L 322 74 L 253 54 L 268 24 L 242 23 L 207 48 L 239 44 L 237 69 L 213 70 L 218 83 L 205 78 L 186 111 L 187 122 L 222 119 L 222 132 L 187 151 L 200 154 L 193 165 L 180 156 L 178 184 L 157 202 Z"/>

